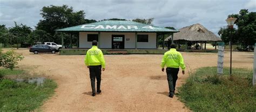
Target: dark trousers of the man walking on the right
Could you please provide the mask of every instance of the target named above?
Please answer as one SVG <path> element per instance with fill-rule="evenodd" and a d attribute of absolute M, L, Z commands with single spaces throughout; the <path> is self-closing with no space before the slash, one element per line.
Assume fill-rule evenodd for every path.
<path fill-rule="evenodd" d="M 178 79 L 179 68 L 166 68 L 167 80 L 169 85 L 169 94 L 174 93 L 176 81 Z"/>

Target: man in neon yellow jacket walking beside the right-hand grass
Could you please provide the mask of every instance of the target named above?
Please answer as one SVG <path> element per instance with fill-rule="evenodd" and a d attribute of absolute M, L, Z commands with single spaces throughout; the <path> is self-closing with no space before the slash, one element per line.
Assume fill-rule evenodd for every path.
<path fill-rule="evenodd" d="M 185 65 L 182 55 L 176 51 L 176 44 L 172 43 L 170 46 L 170 51 L 164 54 L 163 60 L 161 61 L 161 70 L 164 72 L 165 65 L 167 80 L 169 85 L 169 97 L 173 98 L 175 91 L 176 81 L 178 79 L 179 66 L 182 69 L 182 74 L 185 73 Z"/>

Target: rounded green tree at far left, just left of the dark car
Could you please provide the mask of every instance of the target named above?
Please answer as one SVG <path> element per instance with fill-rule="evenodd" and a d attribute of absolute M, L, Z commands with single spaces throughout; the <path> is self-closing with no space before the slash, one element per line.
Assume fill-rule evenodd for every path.
<path fill-rule="evenodd" d="M 14 38 L 14 42 L 17 43 L 17 49 L 18 49 L 18 43 L 25 43 L 29 41 L 29 35 L 32 32 L 32 28 L 26 26 L 26 25 L 17 25 L 16 22 L 14 27 L 9 28 L 9 35 L 12 35 Z"/>

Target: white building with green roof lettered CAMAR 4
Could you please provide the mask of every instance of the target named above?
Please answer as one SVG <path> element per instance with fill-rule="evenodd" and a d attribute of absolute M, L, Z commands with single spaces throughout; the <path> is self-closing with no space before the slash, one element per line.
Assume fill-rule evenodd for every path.
<path fill-rule="evenodd" d="M 103 49 L 156 49 L 157 35 L 179 32 L 123 20 L 99 21 L 56 31 L 79 32 L 79 48 L 91 48 L 92 41 L 97 40 L 98 47 Z"/>

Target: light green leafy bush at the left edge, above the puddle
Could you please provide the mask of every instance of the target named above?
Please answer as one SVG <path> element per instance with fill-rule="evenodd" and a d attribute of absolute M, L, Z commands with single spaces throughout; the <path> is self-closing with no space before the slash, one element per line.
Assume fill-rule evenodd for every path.
<path fill-rule="evenodd" d="M 0 66 L 12 70 L 18 64 L 18 61 L 21 61 L 23 58 L 22 55 L 17 54 L 14 50 L 0 53 Z"/>

